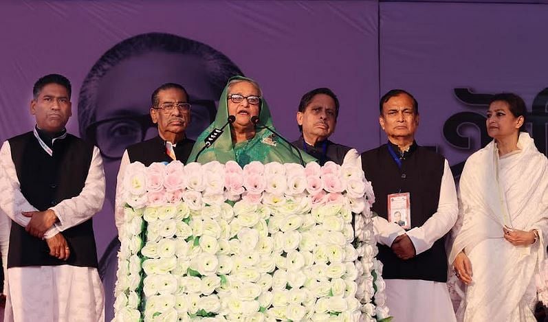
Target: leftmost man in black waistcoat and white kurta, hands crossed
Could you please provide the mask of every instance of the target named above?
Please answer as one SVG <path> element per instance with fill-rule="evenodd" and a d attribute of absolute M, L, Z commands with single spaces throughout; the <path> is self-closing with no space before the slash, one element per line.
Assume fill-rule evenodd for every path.
<path fill-rule="evenodd" d="M 0 150 L 0 206 L 12 220 L 14 321 L 105 319 L 91 222 L 105 200 L 105 174 L 98 148 L 65 129 L 70 95 L 64 76 L 40 78 L 30 103 L 34 130 Z"/>

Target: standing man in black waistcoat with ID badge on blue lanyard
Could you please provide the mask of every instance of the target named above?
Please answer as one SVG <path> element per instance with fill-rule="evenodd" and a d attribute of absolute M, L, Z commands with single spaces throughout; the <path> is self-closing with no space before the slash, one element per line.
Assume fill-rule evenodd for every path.
<path fill-rule="evenodd" d="M 457 220 L 458 205 L 448 162 L 415 142 L 419 110 L 410 93 L 388 91 L 379 122 L 388 142 L 364 152 L 362 168 L 375 192 L 373 227 L 386 304 L 397 321 L 455 321 L 444 236 Z"/>

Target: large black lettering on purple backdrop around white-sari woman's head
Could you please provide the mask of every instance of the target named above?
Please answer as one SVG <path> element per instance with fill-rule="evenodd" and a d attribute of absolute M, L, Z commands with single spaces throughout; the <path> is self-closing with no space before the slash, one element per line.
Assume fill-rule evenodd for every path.
<path fill-rule="evenodd" d="M 487 135 L 485 126 L 485 111 L 489 106 L 492 94 L 474 93 L 468 88 L 453 89 L 455 97 L 471 111 L 458 112 L 451 115 L 443 124 L 443 137 L 451 148 L 467 150 L 472 154 L 479 147 L 487 145 L 492 139 Z M 526 123 L 529 134 L 534 138 L 539 152 L 548 153 L 548 87 L 542 89 L 533 100 L 527 113 Z M 473 126 L 476 128 L 476 137 L 463 135 L 462 128 Z M 451 166 L 454 177 L 459 177 L 464 167 L 465 160 L 454 163 Z"/>

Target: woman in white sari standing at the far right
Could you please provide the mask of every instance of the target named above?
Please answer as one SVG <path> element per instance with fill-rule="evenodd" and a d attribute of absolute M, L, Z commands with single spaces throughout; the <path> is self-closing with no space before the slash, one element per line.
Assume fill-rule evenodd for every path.
<path fill-rule="evenodd" d="M 535 275 L 548 237 L 548 161 L 525 132 L 525 103 L 494 95 L 487 133 L 459 185 L 449 261 L 464 286 L 459 321 L 536 321 Z"/>

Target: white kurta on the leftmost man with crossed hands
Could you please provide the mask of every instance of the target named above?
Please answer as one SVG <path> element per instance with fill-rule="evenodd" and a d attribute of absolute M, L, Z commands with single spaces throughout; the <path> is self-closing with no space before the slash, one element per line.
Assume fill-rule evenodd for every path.
<path fill-rule="evenodd" d="M 67 174 L 70 175 L 70 174 Z M 21 193 L 11 157 L 10 143 L 0 149 L 0 207 L 14 222 L 30 222 L 21 211 L 37 211 Z M 105 200 L 105 173 L 98 148 L 94 147 L 82 192 L 51 207 L 59 222 L 45 233 L 51 238 L 94 216 Z M 104 321 L 104 292 L 96 268 L 78 266 L 32 266 L 8 269 L 14 321 Z M 8 311 L 6 311 L 6 314 Z M 6 316 L 8 318 L 8 316 Z"/>

